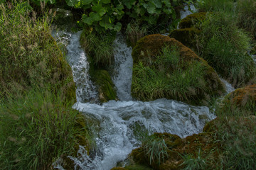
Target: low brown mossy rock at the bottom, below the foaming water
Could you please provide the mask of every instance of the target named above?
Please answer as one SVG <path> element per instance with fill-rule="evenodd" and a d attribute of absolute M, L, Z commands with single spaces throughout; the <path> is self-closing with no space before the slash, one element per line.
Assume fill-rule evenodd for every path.
<path fill-rule="evenodd" d="M 130 157 L 134 159 L 134 162 L 147 164 L 153 169 L 183 169 L 186 166 L 186 164 L 183 164 L 185 157 L 196 159 L 197 157 L 210 154 L 214 159 L 214 157 L 218 155 L 215 149 L 219 147 L 219 143 L 215 142 L 214 135 L 211 132 L 195 134 L 184 139 L 168 133 L 155 133 L 151 137 L 154 137 L 156 140 L 164 141 L 166 145 L 167 155 L 161 157 L 161 162 L 156 162 L 156 160 L 150 161 L 152 158 L 149 157 L 149 155 L 159 154 L 151 153 L 156 151 L 154 148 L 151 148 L 150 151 L 145 149 L 146 145 L 150 145 L 149 142 L 151 142 L 151 140 L 144 142 L 142 147 L 134 149 Z M 161 148 L 160 146 L 155 147 Z M 162 151 L 159 150 L 159 152 Z M 161 154 L 159 154 L 159 156 L 161 156 Z"/>

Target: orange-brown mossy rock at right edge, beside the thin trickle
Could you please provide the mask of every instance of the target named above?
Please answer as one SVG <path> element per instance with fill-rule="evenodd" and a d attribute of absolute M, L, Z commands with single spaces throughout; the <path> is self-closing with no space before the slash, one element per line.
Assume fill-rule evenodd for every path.
<path fill-rule="evenodd" d="M 231 92 L 223 101 L 223 109 L 241 108 L 244 111 L 256 113 L 256 84 L 245 86 Z"/>

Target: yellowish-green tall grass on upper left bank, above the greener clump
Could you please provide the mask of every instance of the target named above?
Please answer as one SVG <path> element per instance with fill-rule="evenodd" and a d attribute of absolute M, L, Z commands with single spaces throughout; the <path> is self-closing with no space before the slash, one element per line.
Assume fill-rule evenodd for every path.
<path fill-rule="evenodd" d="M 50 35 L 49 13 L 36 18 L 26 1 L 0 8 L 0 94 L 40 86 L 74 99 L 72 71 Z"/>

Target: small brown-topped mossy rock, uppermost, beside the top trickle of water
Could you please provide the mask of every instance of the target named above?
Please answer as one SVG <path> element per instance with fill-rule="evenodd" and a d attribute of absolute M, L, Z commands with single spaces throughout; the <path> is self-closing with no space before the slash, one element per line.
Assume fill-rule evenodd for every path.
<path fill-rule="evenodd" d="M 206 19 L 206 12 L 193 13 L 183 18 L 178 24 L 178 28 L 192 28 L 196 23 Z"/>

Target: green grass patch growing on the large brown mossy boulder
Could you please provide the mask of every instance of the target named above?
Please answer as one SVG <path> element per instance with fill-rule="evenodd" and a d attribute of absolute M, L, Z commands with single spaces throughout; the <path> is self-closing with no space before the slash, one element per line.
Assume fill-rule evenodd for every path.
<path fill-rule="evenodd" d="M 183 61 L 176 46 L 164 47 L 156 58 L 134 65 L 133 93 L 140 100 L 173 98 L 179 101 L 198 99 L 207 91 L 203 77 L 206 68 L 197 61 Z"/>

